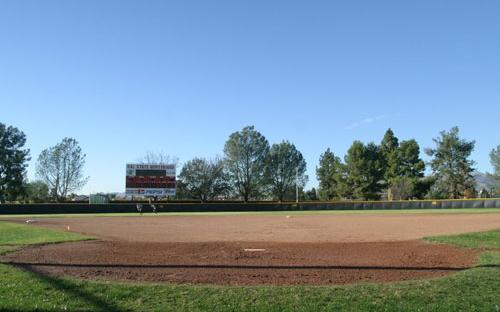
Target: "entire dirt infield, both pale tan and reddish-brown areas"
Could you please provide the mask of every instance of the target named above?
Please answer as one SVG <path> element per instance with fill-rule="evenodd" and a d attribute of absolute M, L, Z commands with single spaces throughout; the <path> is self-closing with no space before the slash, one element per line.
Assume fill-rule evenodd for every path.
<path fill-rule="evenodd" d="M 500 214 L 83 217 L 33 226 L 100 240 L 28 247 L 3 261 L 85 279 L 329 285 L 468 268 L 477 251 L 418 239 L 500 228 Z"/>

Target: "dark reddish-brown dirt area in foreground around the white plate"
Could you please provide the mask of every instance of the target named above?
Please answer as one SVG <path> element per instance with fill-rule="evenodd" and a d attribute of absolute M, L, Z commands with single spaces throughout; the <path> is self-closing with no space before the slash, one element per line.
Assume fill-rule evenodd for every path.
<path fill-rule="evenodd" d="M 86 241 L 3 256 L 42 274 L 84 279 L 232 285 L 330 285 L 443 276 L 477 252 L 422 241 L 378 243 Z"/>

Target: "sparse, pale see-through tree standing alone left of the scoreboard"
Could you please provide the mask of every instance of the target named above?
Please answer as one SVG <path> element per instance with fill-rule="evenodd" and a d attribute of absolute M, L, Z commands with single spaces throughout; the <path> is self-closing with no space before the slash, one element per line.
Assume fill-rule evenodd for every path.
<path fill-rule="evenodd" d="M 49 187 L 51 196 L 63 200 L 82 188 L 88 178 L 83 175 L 85 154 L 72 138 L 43 150 L 38 156 L 36 174 Z"/>

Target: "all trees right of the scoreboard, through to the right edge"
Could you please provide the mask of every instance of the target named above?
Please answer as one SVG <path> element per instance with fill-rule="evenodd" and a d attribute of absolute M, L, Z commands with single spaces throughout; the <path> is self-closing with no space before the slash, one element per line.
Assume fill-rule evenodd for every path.
<path fill-rule="evenodd" d="M 229 136 L 224 158 L 195 158 L 182 168 L 178 197 L 213 200 L 294 199 L 295 186 L 301 200 L 407 200 L 489 197 L 500 190 L 500 145 L 490 153 L 494 172 L 488 189 L 477 190 L 474 161 L 475 141 L 459 136 L 458 127 L 442 131 L 425 149 L 431 157 L 420 158 L 414 139 L 399 140 L 388 129 L 380 144 L 354 141 L 341 159 L 331 149 L 321 154 L 316 176 L 318 190 L 304 191 L 306 161 L 288 141 L 273 144 L 254 127 Z M 425 175 L 426 165 L 430 174 Z"/>

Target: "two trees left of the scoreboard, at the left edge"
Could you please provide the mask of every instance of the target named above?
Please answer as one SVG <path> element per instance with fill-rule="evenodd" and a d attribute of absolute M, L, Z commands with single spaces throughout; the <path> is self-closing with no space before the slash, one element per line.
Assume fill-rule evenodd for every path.
<path fill-rule="evenodd" d="M 61 201 L 86 184 L 85 154 L 75 139 L 64 138 L 44 149 L 37 158 L 38 179 L 31 182 L 26 172 L 30 150 L 25 145 L 22 131 L 0 123 L 0 203 Z"/>

